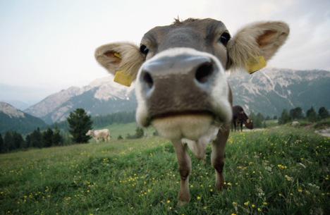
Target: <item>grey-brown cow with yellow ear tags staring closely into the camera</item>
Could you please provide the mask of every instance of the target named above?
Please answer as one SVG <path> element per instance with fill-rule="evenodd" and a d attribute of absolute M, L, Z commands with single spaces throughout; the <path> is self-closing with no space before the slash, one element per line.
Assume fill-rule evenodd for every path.
<path fill-rule="evenodd" d="M 181 176 L 179 206 L 190 202 L 188 147 L 204 159 L 207 144 L 212 142 L 216 190 L 224 187 L 225 146 L 233 105 L 225 71 L 259 70 L 288 34 L 288 25 L 281 21 L 252 23 L 231 37 L 219 20 L 176 19 L 171 25 L 146 32 L 140 46 L 114 42 L 94 52 L 116 82 L 129 86 L 135 81 L 137 123 L 153 125 L 173 143 Z"/>

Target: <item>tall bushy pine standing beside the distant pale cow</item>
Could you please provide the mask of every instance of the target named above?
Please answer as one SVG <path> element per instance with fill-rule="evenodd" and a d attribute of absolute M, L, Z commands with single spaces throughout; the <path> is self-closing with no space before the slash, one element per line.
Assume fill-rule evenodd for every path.
<path fill-rule="evenodd" d="M 69 132 L 72 135 L 73 142 L 88 142 L 88 140 L 92 138 L 86 135 L 88 130 L 92 130 L 92 120 L 84 109 L 76 109 L 71 112 L 67 121 L 70 127 Z"/>

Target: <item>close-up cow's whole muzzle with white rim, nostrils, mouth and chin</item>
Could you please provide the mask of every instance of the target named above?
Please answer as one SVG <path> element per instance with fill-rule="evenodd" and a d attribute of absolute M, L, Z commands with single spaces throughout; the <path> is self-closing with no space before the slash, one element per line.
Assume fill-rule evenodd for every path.
<path fill-rule="evenodd" d="M 184 48 L 161 52 L 142 65 L 136 86 L 142 126 L 152 123 L 185 137 L 231 121 L 224 68 L 211 54 Z"/>

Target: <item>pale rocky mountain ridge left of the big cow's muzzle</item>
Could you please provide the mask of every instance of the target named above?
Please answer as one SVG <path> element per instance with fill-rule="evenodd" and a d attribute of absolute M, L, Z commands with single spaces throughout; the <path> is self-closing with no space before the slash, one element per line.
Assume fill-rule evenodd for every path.
<path fill-rule="evenodd" d="M 113 79 L 108 76 L 85 87 L 69 87 L 51 94 L 25 112 L 54 123 L 65 120 L 77 108 L 85 109 L 92 116 L 135 110 L 137 102 L 133 87 L 118 85 Z"/>

